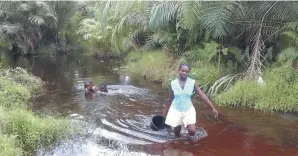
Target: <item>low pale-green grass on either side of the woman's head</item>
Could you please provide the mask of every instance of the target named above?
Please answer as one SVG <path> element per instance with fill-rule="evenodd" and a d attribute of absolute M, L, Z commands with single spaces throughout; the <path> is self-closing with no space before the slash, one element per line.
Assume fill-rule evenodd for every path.
<path fill-rule="evenodd" d="M 169 82 L 177 77 L 179 64 L 188 62 L 184 57 L 175 60 L 161 49 L 146 51 L 142 55 L 131 52 L 126 60 L 128 60 L 125 67 L 127 72 L 161 83 L 163 87 L 167 87 Z M 192 64 L 190 77 L 196 79 L 199 85 L 210 86 L 219 76 L 218 68 L 212 64 L 202 62 Z"/>

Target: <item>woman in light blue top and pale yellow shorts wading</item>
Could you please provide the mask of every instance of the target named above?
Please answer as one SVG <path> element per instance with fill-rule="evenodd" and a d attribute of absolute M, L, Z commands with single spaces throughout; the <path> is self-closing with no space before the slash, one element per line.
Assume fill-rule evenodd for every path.
<path fill-rule="evenodd" d="M 192 104 L 191 96 L 193 91 L 211 107 L 215 117 L 218 112 L 209 98 L 199 88 L 197 82 L 188 77 L 190 67 L 188 64 L 179 66 L 179 77 L 170 83 L 168 103 L 165 105 L 163 115 L 166 116 L 165 124 L 174 127 L 176 137 L 180 137 L 181 126 L 188 129 L 190 136 L 195 135 L 196 110 Z"/>

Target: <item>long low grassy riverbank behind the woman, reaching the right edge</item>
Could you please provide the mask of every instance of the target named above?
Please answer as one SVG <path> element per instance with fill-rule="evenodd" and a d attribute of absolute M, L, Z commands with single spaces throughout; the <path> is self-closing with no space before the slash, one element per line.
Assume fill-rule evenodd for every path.
<path fill-rule="evenodd" d="M 144 52 L 142 57 L 137 55 L 132 52 L 127 56 L 127 60 L 140 59 L 128 61 L 125 70 L 144 76 L 149 81 L 159 82 L 163 87 L 167 87 L 170 80 L 175 78 L 179 64 L 187 62 L 183 57 L 174 60 L 162 50 Z M 264 111 L 298 111 L 298 101 L 295 98 L 298 93 L 298 74 L 291 63 L 277 62 L 267 67 L 263 76 L 264 84 L 258 84 L 257 80 L 240 78 L 239 75 L 232 75 L 225 83 L 221 83 L 217 80 L 226 75 L 220 74 L 215 66 L 204 64 L 200 60 L 193 63 L 190 72 L 190 77 L 196 79 L 204 92 L 219 106 L 248 107 Z M 214 85 L 215 82 L 227 85 L 230 80 L 227 87 Z M 214 92 L 216 87 L 219 89 Z"/>

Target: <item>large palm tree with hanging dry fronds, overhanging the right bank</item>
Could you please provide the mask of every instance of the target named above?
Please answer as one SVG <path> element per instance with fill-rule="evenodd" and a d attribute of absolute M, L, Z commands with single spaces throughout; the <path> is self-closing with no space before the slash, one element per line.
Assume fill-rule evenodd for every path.
<path fill-rule="evenodd" d="M 158 12 L 151 14 L 154 28 L 176 22 L 178 28 L 189 31 L 188 40 L 194 43 L 202 34 L 222 44 L 233 45 L 251 52 L 247 76 L 258 77 L 261 73 L 262 52 L 280 36 L 287 22 L 297 20 L 295 2 L 168 2 L 153 6 Z M 157 11 L 156 11 L 157 10 Z"/>

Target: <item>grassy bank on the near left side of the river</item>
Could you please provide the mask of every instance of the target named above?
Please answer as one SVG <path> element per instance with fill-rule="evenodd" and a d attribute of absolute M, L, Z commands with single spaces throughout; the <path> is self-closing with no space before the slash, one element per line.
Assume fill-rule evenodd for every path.
<path fill-rule="evenodd" d="M 37 116 L 26 107 L 42 84 L 21 68 L 0 70 L 0 155 L 31 155 L 74 130 L 66 119 Z"/>

